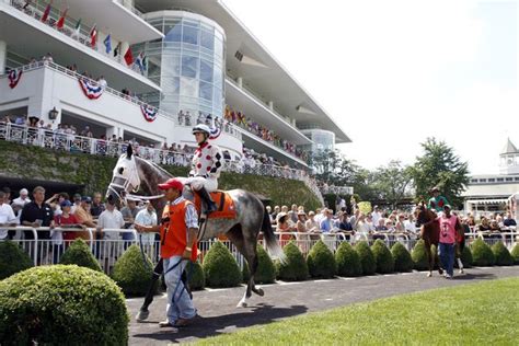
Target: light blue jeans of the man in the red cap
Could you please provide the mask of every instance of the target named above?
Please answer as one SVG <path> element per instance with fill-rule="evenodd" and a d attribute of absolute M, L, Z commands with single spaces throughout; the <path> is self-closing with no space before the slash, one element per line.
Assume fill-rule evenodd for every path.
<path fill-rule="evenodd" d="M 171 267 L 178 264 L 172 270 L 169 270 Z M 184 288 L 184 282 L 182 282 L 182 273 L 184 272 L 187 260 L 182 260 L 182 256 L 173 256 L 170 258 L 164 258 L 164 281 L 168 292 L 168 305 L 166 305 L 166 315 L 168 321 L 171 324 L 174 324 L 178 319 L 192 319 L 196 315 L 195 307 L 193 301 L 189 298 L 186 289 Z"/>

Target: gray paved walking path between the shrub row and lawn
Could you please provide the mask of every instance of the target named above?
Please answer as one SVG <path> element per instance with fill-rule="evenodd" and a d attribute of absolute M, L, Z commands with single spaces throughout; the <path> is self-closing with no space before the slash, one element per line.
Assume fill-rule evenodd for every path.
<path fill-rule="evenodd" d="M 145 323 L 135 321 L 135 315 L 142 304 L 142 298 L 128 299 L 127 304 L 132 319 L 129 343 L 130 345 L 166 345 L 194 342 L 198 338 L 231 333 L 238 328 L 267 324 L 308 312 L 505 277 L 519 277 L 519 266 L 469 268 L 465 269 L 465 274 L 455 274 L 452 280 L 439 276 L 437 272 L 431 278 L 427 278 L 424 272 L 413 272 L 303 282 L 279 281 L 260 286 L 264 289 L 265 296 L 253 295 L 247 301 L 247 308 L 237 308 L 245 287 L 196 291 L 193 299 L 201 318 L 177 332 L 172 328 L 161 328 L 158 325 L 158 322 L 165 319 L 165 295 L 155 296 L 150 305 L 150 316 Z"/>

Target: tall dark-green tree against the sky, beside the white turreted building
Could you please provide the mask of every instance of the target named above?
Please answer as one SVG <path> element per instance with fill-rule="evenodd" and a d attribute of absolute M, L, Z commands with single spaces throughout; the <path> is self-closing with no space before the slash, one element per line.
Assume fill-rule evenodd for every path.
<path fill-rule="evenodd" d="M 427 200 L 430 188 L 439 186 L 447 200 L 459 206 L 462 203 L 460 194 L 470 180 L 469 164 L 461 162 L 446 142 L 437 142 L 435 138 L 427 138 L 422 147 L 424 155 L 416 158 L 416 163 L 410 171 L 416 197 Z"/>

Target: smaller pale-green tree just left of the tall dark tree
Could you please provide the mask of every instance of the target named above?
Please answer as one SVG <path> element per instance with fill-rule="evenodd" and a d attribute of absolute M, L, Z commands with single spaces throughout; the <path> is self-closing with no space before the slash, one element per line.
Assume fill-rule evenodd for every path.
<path fill-rule="evenodd" d="M 413 181 L 411 169 L 402 166 L 400 161 L 390 161 L 387 166 L 379 168 L 374 173 L 374 191 L 380 199 L 391 204 L 393 209 L 408 194 Z"/>

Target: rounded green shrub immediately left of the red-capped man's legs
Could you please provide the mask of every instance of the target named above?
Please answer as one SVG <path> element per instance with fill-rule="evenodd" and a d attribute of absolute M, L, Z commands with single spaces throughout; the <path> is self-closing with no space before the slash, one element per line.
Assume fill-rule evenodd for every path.
<path fill-rule="evenodd" d="M 126 296 L 146 296 L 153 275 L 153 264 L 137 245 L 131 245 L 114 265 L 112 278 L 123 289 Z M 155 285 L 155 293 L 159 285 Z"/>

